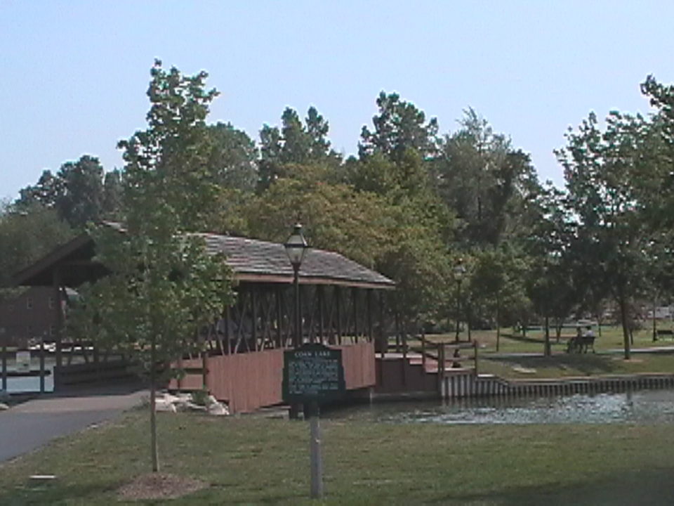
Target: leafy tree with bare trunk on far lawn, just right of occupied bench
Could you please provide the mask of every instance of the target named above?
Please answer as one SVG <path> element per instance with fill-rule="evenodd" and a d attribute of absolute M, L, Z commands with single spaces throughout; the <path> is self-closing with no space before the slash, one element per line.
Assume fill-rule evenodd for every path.
<path fill-rule="evenodd" d="M 564 167 L 569 205 L 576 216 L 572 248 L 581 254 L 585 275 L 607 283 L 621 312 L 625 358 L 630 358 L 630 301 L 645 287 L 652 229 L 645 209 L 656 180 L 656 165 L 645 156 L 652 126 L 640 116 L 611 112 L 600 129 L 590 113 L 567 147 L 557 150 Z"/>

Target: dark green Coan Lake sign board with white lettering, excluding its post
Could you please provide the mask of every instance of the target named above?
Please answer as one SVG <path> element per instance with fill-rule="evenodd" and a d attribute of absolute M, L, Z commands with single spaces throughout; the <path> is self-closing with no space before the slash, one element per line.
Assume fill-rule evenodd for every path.
<path fill-rule="evenodd" d="M 322 402 L 344 394 L 342 351 L 323 344 L 305 344 L 284 351 L 283 400 L 293 402 Z"/>

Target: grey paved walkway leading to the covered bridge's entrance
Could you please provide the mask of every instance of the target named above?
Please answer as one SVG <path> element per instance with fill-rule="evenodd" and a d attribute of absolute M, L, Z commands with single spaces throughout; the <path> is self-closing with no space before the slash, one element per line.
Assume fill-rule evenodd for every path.
<path fill-rule="evenodd" d="M 44 396 L 0 411 L 0 462 L 112 420 L 147 396 L 138 387 L 91 389 Z"/>

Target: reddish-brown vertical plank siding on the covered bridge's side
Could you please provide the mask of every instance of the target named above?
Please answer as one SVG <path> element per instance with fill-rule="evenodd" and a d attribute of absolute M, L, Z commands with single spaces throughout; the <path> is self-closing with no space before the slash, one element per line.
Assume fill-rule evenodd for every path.
<path fill-rule="evenodd" d="M 374 387 L 374 344 L 364 342 L 334 347 L 342 350 L 346 388 L 356 390 Z M 185 360 L 183 367 L 200 368 L 201 360 Z M 232 413 L 249 413 L 283 401 L 282 349 L 211 356 L 208 359 L 208 370 L 207 382 L 211 394 L 220 401 L 227 401 Z M 172 380 L 170 387 L 178 388 L 177 382 Z M 180 387 L 186 390 L 200 389 L 201 375 L 185 376 Z"/>

